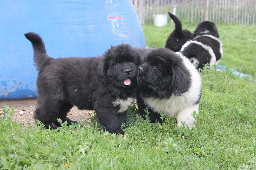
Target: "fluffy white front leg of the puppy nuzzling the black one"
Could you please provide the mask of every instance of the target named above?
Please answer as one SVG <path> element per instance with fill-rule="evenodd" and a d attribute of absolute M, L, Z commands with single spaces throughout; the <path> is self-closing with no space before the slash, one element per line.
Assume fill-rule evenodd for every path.
<path fill-rule="evenodd" d="M 193 117 L 193 111 L 196 111 L 196 115 L 198 114 L 199 104 L 193 105 L 191 107 L 187 107 L 181 110 L 177 115 L 177 126 L 181 127 L 182 122 L 185 122 L 185 127 L 188 125 L 189 129 L 195 127 L 194 122 L 196 119 Z"/>

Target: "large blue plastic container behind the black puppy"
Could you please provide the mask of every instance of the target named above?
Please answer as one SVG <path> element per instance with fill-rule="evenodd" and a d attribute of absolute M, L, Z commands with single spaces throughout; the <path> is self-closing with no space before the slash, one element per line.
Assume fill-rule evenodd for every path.
<path fill-rule="evenodd" d="M 0 100 L 37 97 L 33 49 L 24 33 L 38 33 L 54 58 L 102 55 L 121 43 L 146 48 L 131 0 L 4 0 L 0 15 Z"/>

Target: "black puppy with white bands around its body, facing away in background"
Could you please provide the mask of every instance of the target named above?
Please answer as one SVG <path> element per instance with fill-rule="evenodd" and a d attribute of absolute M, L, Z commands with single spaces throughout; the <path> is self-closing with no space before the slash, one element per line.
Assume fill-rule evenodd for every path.
<path fill-rule="evenodd" d="M 187 41 L 180 52 L 188 57 L 197 67 L 203 68 L 204 64 L 218 64 L 222 57 L 222 43 L 216 25 L 210 21 L 203 21 L 196 26 L 195 38 Z"/>

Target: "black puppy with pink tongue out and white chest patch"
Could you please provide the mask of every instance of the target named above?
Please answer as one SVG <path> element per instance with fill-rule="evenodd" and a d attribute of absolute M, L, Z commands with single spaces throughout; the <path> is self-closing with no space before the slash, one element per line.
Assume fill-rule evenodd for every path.
<path fill-rule="evenodd" d="M 58 118 L 69 124 L 73 106 L 95 110 L 106 131 L 124 134 L 121 124 L 133 104 L 137 91 L 140 54 L 130 45 L 117 45 L 102 57 L 53 59 L 46 54 L 44 43 L 36 33 L 26 33 L 34 49 L 38 70 L 35 119 L 46 128 L 60 126 Z"/>

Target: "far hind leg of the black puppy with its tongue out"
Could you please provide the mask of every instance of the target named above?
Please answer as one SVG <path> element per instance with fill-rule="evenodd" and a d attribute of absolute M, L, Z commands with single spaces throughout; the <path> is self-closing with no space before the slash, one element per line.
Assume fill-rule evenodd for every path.
<path fill-rule="evenodd" d="M 61 119 L 62 122 L 65 122 L 67 121 L 68 122 L 68 125 L 70 125 L 71 123 L 77 123 L 76 121 L 72 121 L 71 119 L 69 119 L 67 117 L 67 114 L 68 112 L 70 111 L 70 109 L 73 107 L 73 104 L 69 103 L 69 102 L 66 102 L 62 105 L 62 107 L 60 107 L 60 111 L 59 111 L 59 114 L 58 114 L 58 118 Z M 60 122 L 58 122 L 58 120 L 54 120 L 53 122 L 56 126 L 60 127 Z"/>

